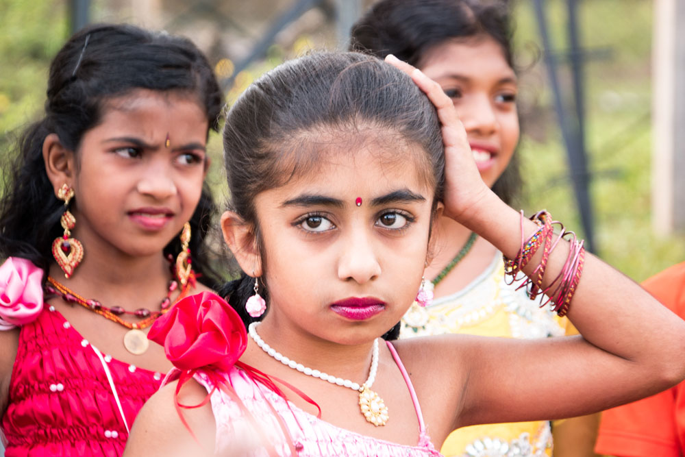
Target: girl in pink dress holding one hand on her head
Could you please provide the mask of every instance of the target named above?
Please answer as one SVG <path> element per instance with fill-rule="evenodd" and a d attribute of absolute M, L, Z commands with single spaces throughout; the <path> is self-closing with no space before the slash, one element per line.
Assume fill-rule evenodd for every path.
<path fill-rule="evenodd" d="M 180 378 L 141 410 L 126 456 L 438 455 L 464 425 L 579 415 L 685 378 L 685 322 L 553 236 L 547 213 L 503 203 L 449 97 L 389 60 L 411 77 L 357 53 L 288 62 L 229 112 L 222 228 L 247 273 L 229 298 L 260 322 L 246 333 L 211 294 L 162 317 L 150 337 Z M 381 341 L 417 297 L 440 214 L 560 291 L 583 336 Z"/>

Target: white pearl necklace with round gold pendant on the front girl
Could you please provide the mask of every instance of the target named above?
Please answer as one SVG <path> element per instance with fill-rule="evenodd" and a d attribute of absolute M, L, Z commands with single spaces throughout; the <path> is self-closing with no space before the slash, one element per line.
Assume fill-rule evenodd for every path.
<path fill-rule="evenodd" d="M 352 382 L 351 380 L 344 380 L 343 378 L 336 378 L 333 375 L 327 373 L 321 373 L 319 370 L 314 370 L 309 367 L 305 367 L 301 363 L 295 362 L 295 360 L 290 360 L 280 352 L 273 349 L 273 347 L 264 343 L 264 340 L 257 334 L 258 323 L 251 323 L 247 332 L 262 351 L 269 354 L 269 356 L 275 358 L 283 365 L 290 367 L 313 378 L 319 378 L 320 380 L 330 382 L 331 384 L 337 384 L 338 386 L 351 388 L 353 391 L 359 392 L 359 408 L 364 415 L 364 419 L 367 422 L 373 423 L 376 427 L 379 425 L 386 425 L 388 422 L 388 407 L 383 402 L 383 399 L 378 396 L 377 393 L 371 390 L 371 386 L 376 379 L 376 371 L 378 369 L 378 339 L 373 341 L 373 351 L 371 352 L 371 369 L 369 369 L 369 378 L 366 378 L 366 382 L 361 386 Z"/>

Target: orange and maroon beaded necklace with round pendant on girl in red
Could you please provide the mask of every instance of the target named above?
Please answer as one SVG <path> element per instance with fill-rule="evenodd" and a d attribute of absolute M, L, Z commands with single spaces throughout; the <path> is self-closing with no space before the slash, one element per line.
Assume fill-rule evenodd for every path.
<path fill-rule="evenodd" d="M 172 274 L 175 276 L 173 268 Z M 195 273 L 192 273 L 191 271 L 190 277 L 195 277 Z M 186 282 L 186 285 L 182 287 L 181 293 L 176 301 L 188 293 L 188 290 L 192 286 L 192 282 L 193 281 Z M 141 330 L 148 328 L 155 322 L 155 320 L 157 320 L 158 317 L 169 311 L 169 308 L 171 308 L 172 305 L 171 294 L 173 294 L 177 288 L 178 281 L 174 277 L 171 281 L 169 281 L 168 291 L 166 293 L 166 297 L 164 297 L 160 303 L 159 311 L 151 311 L 147 308 L 138 308 L 135 311 L 127 311 L 121 306 L 112 306 L 111 308 L 108 308 L 95 299 L 86 299 L 72 291 L 67 286 L 64 286 L 64 284 L 60 284 L 60 282 L 51 276 L 47 277 L 47 284 L 45 284 L 45 292 L 47 294 L 59 295 L 64 301 L 66 301 L 66 303 L 79 304 L 87 310 L 95 312 L 96 314 L 100 314 L 105 319 L 109 319 L 110 321 L 116 322 L 119 325 L 123 325 L 125 328 L 129 329 L 129 331 L 124 334 L 123 344 L 127 351 L 136 356 L 144 354 L 149 347 L 147 335 L 144 332 L 141 332 Z M 123 314 L 130 314 L 143 319 L 142 321 L 138 322 L 129 322 L 121 319 Z"/>

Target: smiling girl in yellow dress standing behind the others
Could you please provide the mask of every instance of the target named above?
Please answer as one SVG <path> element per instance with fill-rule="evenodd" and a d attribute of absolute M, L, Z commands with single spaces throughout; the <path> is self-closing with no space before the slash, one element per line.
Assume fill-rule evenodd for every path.
<path fill-rule="evenodd" d="M 514 149 L 519 141 L 518 91 L 512 62 L 509 11 L 499 1 L 382 0 L 352 28 L 351 46 L 384 58 L 392 53 L 417 66 L 449 95 L 464 124 L 484 182 L 512 204 L 520 187 Z M 450 219 L 438 219 L 436 256 L 426 269 L 437 299 L 414 304 L 401 321 L 401 338 L 467 333 L 514 338 L 576 334 L 565 317 L 528 299 L 519 282 L 504 276 L 501 253 L 485 238 Z M 588 424 L 588 425 L 586 425 Z M 569 433 L 596 430 L 594 417 L 556 423 L 554 454 L 592 455 L 593 439 L 569 443 Z M 564 440 L 565 439 L 565 440 Z M 441 451 L 449 456 L 551 455 L 549 421 L 477 425 L 451 434 Z M 562 449 L 571 444 L 571 449 Z M 482 448 L 482 449 L 481 449 Z M 566 454 L 568 455 L 568 454 Z"/>

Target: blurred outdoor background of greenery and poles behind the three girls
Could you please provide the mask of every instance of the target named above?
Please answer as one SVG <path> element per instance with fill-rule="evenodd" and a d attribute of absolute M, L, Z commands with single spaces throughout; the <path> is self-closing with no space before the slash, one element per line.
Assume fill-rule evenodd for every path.
<path fill-rule="evenodd" d="M 0 0 L 0 155 L 11 153 L 18 132 L 40 116 L 49 62 L 85 23 L 129 22 L 187 36 L 209 56 L 230 104 L 288 58 L 345 48 L 349 26 L 371 3 Z M 659 5 L 676 0 L 508 3 L 520 70 L 521 208 L 547 208 L 636 281 L 685 260 L 685 227 L 679 227 L 685 205 L 678 205 L 685 180 L 674 168 L 682 158 L 660 143 L 660 124 L 653 127 L 654 116 L 661 119 L 657 112 L 677 108 L 668 93 L 656 103 L 653 89 L 660 65 L 660 47 L 653 45 L 664 39 L 655 32 L 668 29 L 659 26 Z M 212 184 L 221 199 L 226 190 L 218 135 L 210 145 Z"/>

